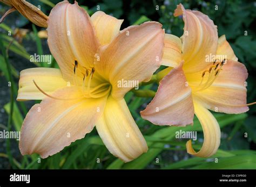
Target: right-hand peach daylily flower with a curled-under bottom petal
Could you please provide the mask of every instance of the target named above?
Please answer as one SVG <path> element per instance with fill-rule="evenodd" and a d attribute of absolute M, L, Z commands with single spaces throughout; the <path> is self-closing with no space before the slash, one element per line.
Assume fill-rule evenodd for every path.
<path fill-rule="evenodd" d="M 181 4 L 174 16 L 183 16 L 184 34 L 181 39 L 165 35 L 163 64 L 169 68 L 160 73 L 166 76 L 141 114 L 153 124 L 175 126 L 193 124 L 196 114 L 203 127 L 204 143 L 196 152 L 191 140 L 187 141 L 187 152 L 208 157 L 220 145 L 219 124 L 208 110 L 236 114 L 248 111 L 245 86 L 248 74 L 225 35 L 218 39 L 217 26 L 208 16 L 185 10 Z"/>

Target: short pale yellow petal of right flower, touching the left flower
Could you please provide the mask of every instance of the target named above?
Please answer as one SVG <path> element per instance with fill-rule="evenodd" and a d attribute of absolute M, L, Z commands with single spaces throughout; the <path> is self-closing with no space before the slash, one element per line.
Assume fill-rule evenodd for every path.
<path fill-rule="evenodd" d="M 162 65 L 176 67 L 181 62 L 181 40 L 176 35 L 165 34 Z"/>

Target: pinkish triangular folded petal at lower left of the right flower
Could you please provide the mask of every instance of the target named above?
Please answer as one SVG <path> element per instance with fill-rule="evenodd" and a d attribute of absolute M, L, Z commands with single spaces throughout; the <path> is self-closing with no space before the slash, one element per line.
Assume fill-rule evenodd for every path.
<path fill-rule="evenodd" d="M 193 124 L 194 107 L 191 88 L 182 70 L 183 62 L 160 81 L 156 96 L 140 114 L 156 125 Z"/>

